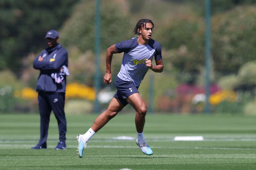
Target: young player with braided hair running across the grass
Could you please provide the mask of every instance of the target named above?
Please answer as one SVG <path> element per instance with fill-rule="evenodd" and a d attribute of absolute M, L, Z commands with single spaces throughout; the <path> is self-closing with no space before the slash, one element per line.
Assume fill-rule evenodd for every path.
<path fill-rule="evenodd" d="M 111 62 L 113 54 L 124 52 L 121 69 L 116 78 L 117 92 L 108 105 L 106 111 L 101 113 L 94 121 L 89 130 L 78 135 L 78 155 L 83 156 L 88 140 L 98 132 L 109 120 L 115 117 L 128 103 L 135 109 L 135 125 L 137 130 L 136 143 L 146 155 L 152 155 L 153 151 L 146 143 L 143 135 L 146 105 L 138 92 L 139 85 L 149 69 L 161 73 L 163 71 L 161 45 L 151 39 L 154 24 L 149 19 L 141 19 L 134 28 L 134 34 L 138 36 L 113 44 L 106 52 L 106 74 L 103 78 L 105 84 L 112 82 Z M 156 65 L 152 65 L 155 58 Z"/>

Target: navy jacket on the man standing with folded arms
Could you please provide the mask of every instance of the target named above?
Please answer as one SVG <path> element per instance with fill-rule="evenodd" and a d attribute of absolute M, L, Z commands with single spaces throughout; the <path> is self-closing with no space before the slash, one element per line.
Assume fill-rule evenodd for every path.
<path fill-rule="evenodd" d="M 43 61 L 38 61 L 39 56 L 43 57 Z M 61 44 L 56 47 L 43 50 L 33 62 L 33 67 L 40 70 L 37 79 L 37 92 L 65 92 L 66 76 L 62 83 L 58 84 L 51 77 L 51 73 L 58 73 L 62 66 L 68 66 L 68 52 Z"/>

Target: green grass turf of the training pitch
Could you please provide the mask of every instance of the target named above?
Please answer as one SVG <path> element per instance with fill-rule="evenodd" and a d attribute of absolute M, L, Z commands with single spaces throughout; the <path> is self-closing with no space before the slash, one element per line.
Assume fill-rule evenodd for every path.
<path fill-rule="evenodd" d="M 134 114 L 120 113 L 76 154 L 76 135 L 96 114 L 67 115 L 67 150 L 54 150 L 58 126 L 51 115 L 48 149 L 32 150 L 39 139 L 39 114 L 0 114 L 0 169 L 256 169 L 256 117 L 211 114 L 148 114 L 145 138 L 154 154 L 144 155 L 135 140 Z M 204 141 L 174 141 L 203 136 Z"/>

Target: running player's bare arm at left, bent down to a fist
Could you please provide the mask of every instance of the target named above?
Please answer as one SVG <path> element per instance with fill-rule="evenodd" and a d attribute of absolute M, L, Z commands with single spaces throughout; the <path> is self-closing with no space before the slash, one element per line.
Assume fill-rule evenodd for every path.
<path fill-rule="evenodd" d="M 111 45 L 106 52 L 106 74 L 103 78 L 103 82 L 105 84 L 110 84 L 112 82 L 112 75 L 111 75 L 111 62 L 113 54 L 118 53 L 115 48 L 115 44 Z"/>

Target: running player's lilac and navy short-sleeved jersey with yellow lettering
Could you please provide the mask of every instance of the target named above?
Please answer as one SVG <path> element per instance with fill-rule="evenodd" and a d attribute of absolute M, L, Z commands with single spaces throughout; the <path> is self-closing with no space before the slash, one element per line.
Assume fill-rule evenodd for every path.
<path fill-rule="evenodd" d="M 149 69 L 145 64 L 146 59 L 162 59 L 161 45 L 153 39 L 150 39 L 148 44 L 141 45 L 138 44 L 138 37 L 135 37 L 115 44 L 115 48 L 118 53 L 124 52 L 117 76 L 124 81 L 132 81 L 137 87 Z"/>

